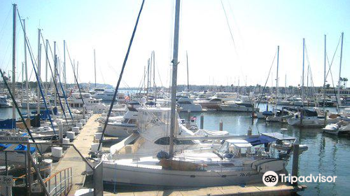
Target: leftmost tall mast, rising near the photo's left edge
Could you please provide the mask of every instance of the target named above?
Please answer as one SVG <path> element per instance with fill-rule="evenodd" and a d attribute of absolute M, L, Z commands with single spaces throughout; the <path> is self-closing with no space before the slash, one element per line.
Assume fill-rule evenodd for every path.
<path fill-rule="evenodd" d="M 16 10 L 17 4 L 13 4 L 13 39 L 12 39 L 12 93 L 16 96 Z M 16 119 L 15 104 L 12 104 L 12 118 Z"/>

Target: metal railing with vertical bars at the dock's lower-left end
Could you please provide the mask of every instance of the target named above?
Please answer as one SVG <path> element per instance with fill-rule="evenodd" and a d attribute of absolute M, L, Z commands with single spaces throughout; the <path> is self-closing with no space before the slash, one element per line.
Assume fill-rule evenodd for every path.
<path fill-rule="evenodd" d="M 59 170 L 43 181 L 50 195 L 67 195 L 73 186 L 71 167 Z"/>

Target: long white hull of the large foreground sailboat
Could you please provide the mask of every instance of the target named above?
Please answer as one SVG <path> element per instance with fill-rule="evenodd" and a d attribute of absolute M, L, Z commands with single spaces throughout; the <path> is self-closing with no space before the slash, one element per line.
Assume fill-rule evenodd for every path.
<path fill-rule="evenodd" d="M 134 186 L 208 187 L 261 181 L 262 174 L 253 169 L 244 172 L 178 171 L 104 163 L 104 182 L 106 183 Z"/>

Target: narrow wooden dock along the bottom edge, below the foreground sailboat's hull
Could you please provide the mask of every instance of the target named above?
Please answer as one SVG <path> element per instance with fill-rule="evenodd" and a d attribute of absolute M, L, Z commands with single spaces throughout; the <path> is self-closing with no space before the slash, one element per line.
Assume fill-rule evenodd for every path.
<path fill-rule="evenodd" d="M 209 188 L 183 188 L 179 190 L 153 190 L 129 193 L 109 193 L 104 192 L 105 196 L 208 196 L 208 195 L 295 195 L 302 191 L 306 186 L 290 186 L 288 184 L 279 184 L 278 186 L 268 187 L 263 183 L 249 186 L 218 186 Z"/>

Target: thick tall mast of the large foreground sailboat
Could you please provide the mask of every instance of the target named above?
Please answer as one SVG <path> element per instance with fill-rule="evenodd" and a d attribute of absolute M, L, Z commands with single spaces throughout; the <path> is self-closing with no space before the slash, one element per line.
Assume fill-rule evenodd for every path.
<path fill-rule="evenodd" d="M 179 52 L 179 23 L 180 23 L 180 0 L 176 0 L 175 5 L 175 27 L 174 27 L 174 50 L 173 50 L 173 70 L 172 70 L 172 110 L 170 116 L 170 158 L 174 156 L 174 132 L 176 127 L 176 80 L 177 80 L 177 64 Z"/>

